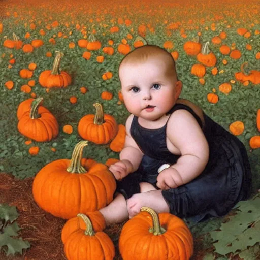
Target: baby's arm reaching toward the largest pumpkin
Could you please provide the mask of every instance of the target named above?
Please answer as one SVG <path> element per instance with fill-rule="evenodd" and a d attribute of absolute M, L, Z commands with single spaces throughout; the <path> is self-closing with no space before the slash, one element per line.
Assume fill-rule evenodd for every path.
<path fill-rule="evenodd" d="M 117 180 L 121 180 L 129 173 L 136 171 L 144 155 L 130 134 L 133 117 L 133 115 L 130 115 L 125 123 L 126 136 L 124 148 L 119 154 L 120 161 L 109 167 Z"/>

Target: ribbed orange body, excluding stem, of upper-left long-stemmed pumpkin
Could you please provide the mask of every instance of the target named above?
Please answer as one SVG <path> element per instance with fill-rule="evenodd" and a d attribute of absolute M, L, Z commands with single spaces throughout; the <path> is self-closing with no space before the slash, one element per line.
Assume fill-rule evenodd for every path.
<path fill-rule="evenodd" d="M 43 71 L 39 76 L 39 83 L 43 87 L 67 87 L 71 84 L 71 76 L 61 71 L 60 74 L 51 74 L 51 70 Z"/>

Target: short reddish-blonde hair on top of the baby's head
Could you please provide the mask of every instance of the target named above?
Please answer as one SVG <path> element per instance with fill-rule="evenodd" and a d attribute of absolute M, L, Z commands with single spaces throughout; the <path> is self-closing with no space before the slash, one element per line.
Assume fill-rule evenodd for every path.
<path fill-rule="evenodd" d="M 121 60 L 118 71 L 124 64 L 135 65 L 140 62 L 146 62 L 149 59 L 164 59 L 167 62 L 166 75 L 174 76 L 178 80 L 174 58 L 168 51 L 157 45 L 144 45 L 129 52 Z"/>

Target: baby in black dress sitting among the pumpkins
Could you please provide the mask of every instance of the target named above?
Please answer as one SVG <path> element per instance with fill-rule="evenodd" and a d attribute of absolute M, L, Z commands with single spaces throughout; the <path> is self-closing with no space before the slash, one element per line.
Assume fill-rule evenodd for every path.
<path fill-rule="evenodd" d="M 240 140 L 197 105 L 179 99 L 182 84 L 170 53 L 145 45 L 119 66 L 126 109 L 114 200 L 100 210 L 106 224 L 147 206 L 179 217 L 222 216 L 251 192 L 251 171 Z"/>

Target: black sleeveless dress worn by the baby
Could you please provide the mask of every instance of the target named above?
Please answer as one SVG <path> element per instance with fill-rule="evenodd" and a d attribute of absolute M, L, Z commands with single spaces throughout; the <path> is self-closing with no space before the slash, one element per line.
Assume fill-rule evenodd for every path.
<path fill-rule="evenodd" d="M 178 109 L 189 111 L 202 127 L 200 117 L 188 106 L 175 104 L 167 113 Z M 179 217 L 193 217 L 200 221 L 206 216 L 223 216 L 240 200 L 251 193 L 251 170 L 243 143 L 205 113 L 202 131 L 209 144 L 209 161 L 204 171 L 195 179 L 177 188 L 163 190 L 170 213 Z M 163 164 L 175 164 L 180 155 L 172 154 L 166 145 L 166 126 L 147 129 L 134 116 L 130 133 L 145 154 L 137 171 L 117 181 L 117 192 L 125 199 L 140 193 L 140 182 L 156 186 L 157 170 Z"/>

